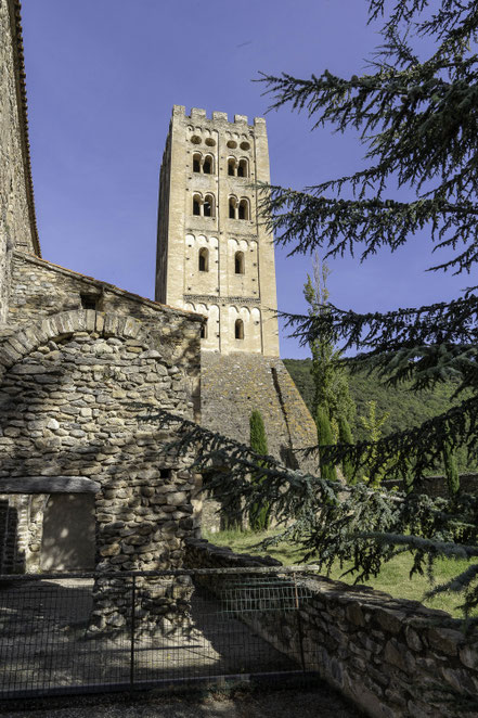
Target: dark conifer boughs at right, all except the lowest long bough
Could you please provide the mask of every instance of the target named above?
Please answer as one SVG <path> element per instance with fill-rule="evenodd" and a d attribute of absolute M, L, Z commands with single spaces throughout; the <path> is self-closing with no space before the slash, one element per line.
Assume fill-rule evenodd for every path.
<path fill-rule="evenodd" d="M 388 4 L 369 0 L 371 22 Z M 428 229 L 430 251 L 443 249 L 448 257 L 430 269 L 473 270 L 478 258 L 477 28 L 476 2 L 398 0 L 370 73 L 262 78 L 272 108 L 290 104 L 307 112 L 314 128 L 356 128 L 366 148 L 369 166 L 351 176 L 303 191 L 262 188 L 264 217 L 290 254 L 321 247 L 325 258 L 349 252 L 363 261 Z M 435 41 L 435 50 L 421 59 L 414 46 L 424 37 Z M 401 188 L 412 193 L 410 201 L 396 198 Z M 478 384 L 477 308 L 471 289 L 454 302 L 426 307 L 359 315 L 328 305 L 326 312 L 286 319 L 302 344 L 337 337 L 345 350 L 357 351 L 353 363 L 378 368 L 384 381 L 412 380 L 419 389 L 454 379 L 460 394 L 475 393 Z M 417 473 L 436 463 L 444 434 L 475 451 L 475 398 L 467 396 L 460 411 L 460 421 L 454 410 L 422 433 L 396 437 L 395 448 L 406 449 L 406 461 L 416 459 Z M 384 463 L 392 444 L 387 438 L 378 451 Z M 397 470 L 403 471 L 403 463 Z"/>

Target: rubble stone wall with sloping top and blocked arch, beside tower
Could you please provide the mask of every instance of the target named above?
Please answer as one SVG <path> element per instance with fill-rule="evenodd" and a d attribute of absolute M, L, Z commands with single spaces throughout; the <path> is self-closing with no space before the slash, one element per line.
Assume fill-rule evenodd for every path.
<path fill-rule="evenodd" d="M 79 309 L 85 294 L 98 295 L 108 311 Z M 0 484 L 94 479 L 96 569 L 181 566 L 183 539 L 197 530 L 197 477 L 188 469 L 191 453 L 168 448 L 180 422 L 151 423 L 145 415 L 165 409 L 194 419 L 201 318 L 21 254 L 11 309 L 0 342 Z M 7 499 L 12 510 L 27 501 L 16 516 L 17 555 L 37 570 L 38 505 L 48 496 L 4 495 L 3 505 Z M 152 603 L 143 623 L 178 618 L 178 591 L 184 603 L 190 588 L 172 587 L 163 597 L 169 614 L 166 604 L 159 614 Z M 94 627 L 121 628 L 128 607 L 101 581 L 94 597 Z"/>

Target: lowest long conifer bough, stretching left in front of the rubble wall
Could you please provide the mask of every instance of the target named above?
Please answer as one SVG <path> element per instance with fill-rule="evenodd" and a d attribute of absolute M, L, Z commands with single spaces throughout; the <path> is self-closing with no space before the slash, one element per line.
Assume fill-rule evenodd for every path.
<path fill-rule="evenodd" d="M 398 550 L 412 553 L 412 574 L 421 575 L 429 575 L 439 556 L 476 559 L 476 565 L 450 581 L 451 589 L 447 585 L 432 592 L 461 591 L 465 615 L 478 608 L 478 497 L 458 495 L 451 511 L 444 499 L 416 491 L 373 490 L 363 482 L 346 486 L 287 469 L 271 456 L 264 460 L 246 445 L 157 407 L 141 419 L 176 433 L 164 449 L 171 458 L 194 453 L 192 471 L 229 466 L 227 475 L 212 473 L 208 483 L 223 507 L 235 509 L 240 501 L 243 515 L 248 515 L 253 505 L 268 501 L 281 530 L 266 544 L 292 541 L 305 561 L 312 559 L 323 570 L 337 559 L 341 565 L 352 562 L 346 574 L 353 574 L 356 581 L 377 576 Z M 260 484 L 250 482 L 258 469 Z"/>

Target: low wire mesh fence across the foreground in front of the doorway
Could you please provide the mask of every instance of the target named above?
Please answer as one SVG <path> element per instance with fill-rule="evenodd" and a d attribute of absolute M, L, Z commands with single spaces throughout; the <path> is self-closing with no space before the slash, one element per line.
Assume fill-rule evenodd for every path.
<path fill-rule="evenodd" d="M 303 670 L 275 638 L 300 634 L 307 599 L 295 577 L 245 572 L 0 579 L 0 697 Z"/>

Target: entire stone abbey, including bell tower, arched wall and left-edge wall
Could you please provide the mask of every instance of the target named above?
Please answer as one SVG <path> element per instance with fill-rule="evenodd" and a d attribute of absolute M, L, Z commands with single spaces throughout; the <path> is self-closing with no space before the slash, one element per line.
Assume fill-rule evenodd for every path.
<path fill-rule="evenodd" d="M 168 448 L 183 420 L 247 443 L 260 409 L 289 465 L 314 443 L 251 188 L 264 121 L 175 107 L 156 299 L 141 297 L 41 256 L 17 0 L 0 0 L 0 573 L 179 567 L 202 517 L 193 457 Z"/>

